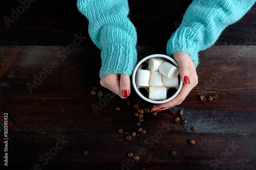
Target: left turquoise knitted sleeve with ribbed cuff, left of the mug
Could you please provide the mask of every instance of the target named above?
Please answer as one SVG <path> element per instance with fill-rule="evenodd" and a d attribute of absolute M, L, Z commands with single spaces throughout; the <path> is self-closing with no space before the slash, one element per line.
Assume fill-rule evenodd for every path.
<path fill-rule="evenodd" d="M 101 50 L 100 78 L 109 73 L 131 76 L 137 62 L 137 33 L 127 18 L 127 0 L 78 0 L 77 7 L 88 18 L 89 35 Z"/>

